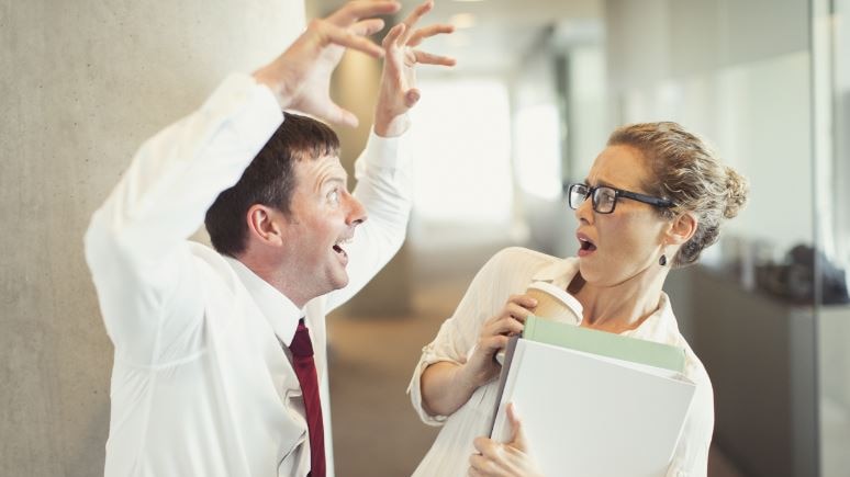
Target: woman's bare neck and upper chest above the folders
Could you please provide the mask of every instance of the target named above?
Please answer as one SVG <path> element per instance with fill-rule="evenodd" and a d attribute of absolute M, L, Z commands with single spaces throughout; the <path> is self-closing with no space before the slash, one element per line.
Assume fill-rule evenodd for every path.
<path fill-rule="evenodd" d="M 622 333 L 639 327 L 658 309 L 666 277 L 667 270 L 646 271 L 613 286 L 599 286 L 577 274 L 568 289 L 575 289 L 572 293 L 584 309 L 581 326 Z"/>

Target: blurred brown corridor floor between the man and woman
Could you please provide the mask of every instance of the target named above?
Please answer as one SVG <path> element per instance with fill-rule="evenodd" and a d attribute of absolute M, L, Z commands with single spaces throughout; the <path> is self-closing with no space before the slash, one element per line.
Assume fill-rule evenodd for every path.
<path fill-rule="evenodd" d="M 490 251 L 477 253 L 483 257 L 466 254 L 463 260 L 482 264 Z M 452 313 L 474 270 L 439 271 L 428 262 L 434 263 L 420 257 L 422 280 L 411 314 L 329 317 L 332 420 L 340 477 L 409 476 L 436 436 L 437 429 L 414 413 L 405 389 L 422 347 Z M 714 448 L 708 470 L 709 477 L 745 477 Z"/>

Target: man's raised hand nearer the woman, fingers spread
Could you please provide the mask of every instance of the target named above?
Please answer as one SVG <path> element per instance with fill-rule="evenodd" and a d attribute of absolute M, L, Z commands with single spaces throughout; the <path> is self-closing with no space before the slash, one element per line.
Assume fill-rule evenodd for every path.
<path fill-rule="evenodd" d="M 426 0 L 383 38 L 383 75 L 374 111 L 374 133 L 379 136 L 400 136 L 407 129 L 406 113 L 420 100 L 420 90 L 416 89 L 416 64 L 455 66 L 454 58 L 414 49 L 425 38 L 455 31 L 455 27 L 448 24 L 414 30 L 420 19 L 433 8 L 433 0 Z"/>

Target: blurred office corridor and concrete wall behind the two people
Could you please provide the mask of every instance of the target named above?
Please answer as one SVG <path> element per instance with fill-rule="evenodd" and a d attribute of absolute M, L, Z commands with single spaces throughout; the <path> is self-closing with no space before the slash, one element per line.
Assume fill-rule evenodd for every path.
<path fill-rule="evenodd" d="M 102 474 L 112 347 L 82 234 L 145 138 L 291 39 L 279 3 L 0 1 L 0 475 Z M 426 49 L 458 66 L 420 70 L 409 240 L 329 318 L 337 474 L 411 474 L 437 429 L 407 382 L 472 275 L 506 246 L 573 254 L 562 184 L 617 125 L 663 120 L 751 181 L 722 241 L 668 280 L 715 388 L 709 475 L 850 476 L 849 9 L 437 0 L 429 21 L 458 30 Z M 380 68 L 348 54 L 335 76 L 361 118 L 338 129 L 347 167 Z"/>

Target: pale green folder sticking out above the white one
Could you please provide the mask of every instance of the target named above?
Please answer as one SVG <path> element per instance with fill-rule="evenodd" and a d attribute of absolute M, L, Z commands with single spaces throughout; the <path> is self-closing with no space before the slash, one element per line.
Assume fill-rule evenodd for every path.
<path fill-rule="evenodd" d="M 601 356 L 684 372 L 684 349 L 529 316 L 523 338 Z"/>

